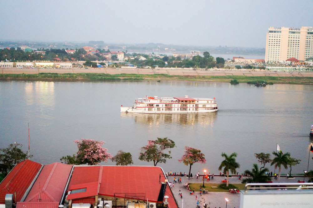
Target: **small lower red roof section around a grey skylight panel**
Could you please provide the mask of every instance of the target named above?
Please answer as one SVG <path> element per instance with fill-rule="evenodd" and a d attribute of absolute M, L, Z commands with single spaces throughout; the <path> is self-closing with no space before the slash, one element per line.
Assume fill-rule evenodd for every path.
<path fill-rule="evenodd" d="M 84 191 L 84 192 L 69 194 L 67 196 L 67 200 L 86 198 L 86 197 L 90 197 L 90 196 L 97 196 L 98 195 L 99 182 L 96 181 L 96 182 L 85 183 L 85 184 L 76 184 L 76 185 L 72 185 L 69 189 L 72 191 L 72 190 L 84 189 L 84 188 L 86 188 L 86 191 Z"/>

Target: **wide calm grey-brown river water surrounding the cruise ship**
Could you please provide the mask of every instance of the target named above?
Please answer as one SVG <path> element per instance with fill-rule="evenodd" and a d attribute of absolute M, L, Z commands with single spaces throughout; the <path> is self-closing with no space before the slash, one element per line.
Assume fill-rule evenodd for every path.
<path fill-rule="evenodd" d="M 135 97 L 180 96 L 216 98 L 218 112 L 207 114 L 131 114 L 120 106 L 131 106 Z M 293 173 L 307 169 L 309 136 L 313 124 L 312 85 L 254 85 L 185 81 L 45 82 L 0 81 L 0 148 L 15 141 L 30 148 L 33 160 L 49 164 L 77 151 L 73 142 L 88 138 L 106 141 L 115 155 L 130 152 L 134 165 L 153 165 L 138 159 L 148 139 L 168 137 L 175 141 L 172 159 L 158 164 L 165 172 L 188 172 L 179 163 L 184 147 L 201 149 L 206 164 L 195 164 L 192 172 L 208 169 L 218 174 L 222 152 L 238 153 L 242 173 L 257 163 L 254 153 L 271 153 L 279 144 L 282 152 L 301 159 Z M 311 153 L 312 157 L 313 154 Z M 107 163 L 112 165 L 113 162 Z M 270 170 L 274 169 L 267 166 Z M 313 161 L 310 168 L 313 169 Z M 282 169 L 282 173 L 287 173 Z"/>

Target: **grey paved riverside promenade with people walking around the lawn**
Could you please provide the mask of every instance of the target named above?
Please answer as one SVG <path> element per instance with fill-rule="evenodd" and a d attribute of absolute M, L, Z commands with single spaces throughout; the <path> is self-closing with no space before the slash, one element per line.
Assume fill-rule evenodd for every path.
<path fill-rule="evenodd" d="M 176 178 L 180 176 L 175 176 Z M 189 190 L 187 190 L 186 187 L 184 187 L 185 183 L 203 183 L 203 176 L 200 176 L 198 179 L 194 176 L 193 178 L 188 179 L 186 176 L 181 177 L 182 183 L 179 184 L 178 182 L 174 184 L 173 187 L 173 194 L 175 199 L 178 202 L 178 205 L 180 208 L 182 208 L 182 202 L 183 207 L 185 208 L 196 208 L 197 207 L 197 201 L 199 201 L 199 205 L 201 208 L 203 208 L 203 203 L 207 204 L 207 208 L 219 208 L 219 207 L 225 207 L 226 201 L 225 198 L 228 198 L 229 201 L 227 203 L 227 207 L 229 208 L 238 208 L 240 205 L 240 195 L 241 193 L 228 193 L 228 192 L 208 192 L 207 194 L 203 194 L 200 196 L 199 192 L 195 192 L 193 195 L 190 195 Z M 246 178 L 245 176 L 243 178 Z M 273 178 L 273 183 L 277 183 L 278 180 Z M 221 180 L 225 179 L 225 176 L 219 176 L 214 175 L 213 180 L 205 180 L 204 185 L 209 186 L 210 183 L 221 183 Z M 168 181 L 173 183 L 174 176 L 168 176 Z M 303 180 L 303 176 L 295 177 L 295 179 L 288 179 L 285 176 L 282 176 L 280 179 L 281 183 L 296 183 L 298 180 Z M 241 181 L 238 180 L 237 176 L 233 176 L 233 178 L 229 178 L 230 184 L 239 184 Z M 178 196 L 179 190 L 182 192 L 182 198 Z M 197 200 L 196 200 L 197 196 Z"/>

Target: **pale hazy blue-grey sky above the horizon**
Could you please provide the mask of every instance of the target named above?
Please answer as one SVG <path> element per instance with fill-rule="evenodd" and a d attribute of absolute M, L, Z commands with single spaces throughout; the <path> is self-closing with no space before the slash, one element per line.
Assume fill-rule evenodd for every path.
<path fill-rule="evenodd" d="M 0 0 L 0 40 L 265 48 L 269 26 L 313 26 L 312 8 L 313 0 Z"/>

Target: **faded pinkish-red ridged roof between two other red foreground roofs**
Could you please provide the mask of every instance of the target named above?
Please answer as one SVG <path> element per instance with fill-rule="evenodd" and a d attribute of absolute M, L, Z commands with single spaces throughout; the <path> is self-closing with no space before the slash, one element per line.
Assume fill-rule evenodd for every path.
<path fill-rule="evenodd" d="M 41 202 L 59 202 L 62 198 L 72 166 L 62 163 L 45 165 L 27 195 L 25 202 L 38 202 L 39 190 Z"/>

